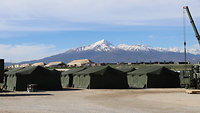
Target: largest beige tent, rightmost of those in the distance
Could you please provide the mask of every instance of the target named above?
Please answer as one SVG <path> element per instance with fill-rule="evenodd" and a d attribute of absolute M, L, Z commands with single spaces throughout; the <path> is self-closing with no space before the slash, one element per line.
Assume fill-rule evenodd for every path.
<path fill-rule="evenodd" d="M 79 59 L 79 60 L 73 60 L 70 63 L 68 63 L 67 65 L 69 67 L 71 67 L 71 66 L 89 66 L 92 63 L 94 63 L 94 62 L 92 62 L 88 59 Z"/>

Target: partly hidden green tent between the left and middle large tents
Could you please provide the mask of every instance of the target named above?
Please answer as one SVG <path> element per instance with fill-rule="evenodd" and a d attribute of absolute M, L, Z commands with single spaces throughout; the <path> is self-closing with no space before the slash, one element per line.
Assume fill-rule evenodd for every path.
<path fill-rule="evenodd" d="M 77 73 L 79 71 L 82 71 L 86 68 L 72 68 L 68 71 L 61 73 L 61 84 L 62 87 L 72 87 L 73 83 L 73 74 Z"/>

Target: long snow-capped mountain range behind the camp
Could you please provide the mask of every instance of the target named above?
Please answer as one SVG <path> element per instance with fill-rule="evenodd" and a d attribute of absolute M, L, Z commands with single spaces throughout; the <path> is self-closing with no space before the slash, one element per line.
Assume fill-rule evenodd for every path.
<path fill-rule="evenodd" d="M 190 54 L 188 54 L 190 53 Z M 26 63 L 55 62 L 69 63 L 77 59 L 90 59 L 93 62 L 149 62 L 149 61 L 185 61 L 184 50 L 177 48 L 151 47 L 143 44 L 112 45 L 106 40 L 91 45 L 72 48 L 64 53 L 46 57 L 40 60 L 26 61 Z M 200 50 L 188 49 L 187 61 L 197 63 L 200 61 Z"/>

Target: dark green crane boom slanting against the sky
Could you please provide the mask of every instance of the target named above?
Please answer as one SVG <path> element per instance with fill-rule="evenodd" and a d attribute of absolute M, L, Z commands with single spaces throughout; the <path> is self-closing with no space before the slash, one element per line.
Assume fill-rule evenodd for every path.
<path fill-rule="evenodd" d="M 194 20 L 192 19 L 192 15 L 191 15 L 191 13 L 190 13 L 190 10 L 189 10 L 188 6 L 183 7 L 183 9 L 185 9 L 185 10 L 187 11 L 188 17 L 189 17 L 189 19 L 190 19 L 190 23 L 192 24 L 192 27 L 193 27 L 193 29 L 194 29 L 196 38 L 197 38 L 197 40 L 198 40 L 198 42 L 199 42 L 199 45 L 200 45 L 200 36 L 199 36 L 199 32 L 197 31 L 197 28 L 196 28 L 196 26 L 195 26 Z"/>

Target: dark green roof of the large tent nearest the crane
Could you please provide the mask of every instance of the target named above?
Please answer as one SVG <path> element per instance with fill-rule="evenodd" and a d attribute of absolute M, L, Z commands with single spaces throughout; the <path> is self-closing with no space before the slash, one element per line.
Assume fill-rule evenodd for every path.
<path fill-rule="evenodd" d="M 174 73 L 164 66 L 155 66 L 155 67 L 142 67 L 135 71 L 129 72 L 128 74 L 156 74 L 159 75 L 161 73 Z"/>

